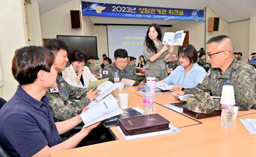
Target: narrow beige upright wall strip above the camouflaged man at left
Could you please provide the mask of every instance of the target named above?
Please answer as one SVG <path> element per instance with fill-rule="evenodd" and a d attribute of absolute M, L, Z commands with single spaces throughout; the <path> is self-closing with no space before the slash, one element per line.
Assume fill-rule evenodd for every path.
<path fill-rule="evenodd" d="M 31 35 L 31 45 L 42 46 L 42 34 L 37 1 L 33 1 L 32 4 L 26 4 L 26 8 L 27 21 L 29 23 L 29 31 Z"/>

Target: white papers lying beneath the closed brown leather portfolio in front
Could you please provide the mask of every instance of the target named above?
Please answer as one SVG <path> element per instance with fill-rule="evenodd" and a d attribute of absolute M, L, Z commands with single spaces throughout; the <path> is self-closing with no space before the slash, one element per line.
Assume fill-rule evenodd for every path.
<path fill-rule="evenodd" d="M 123 138 L 125 138 L 125 140 L 133 140 L 133 139 L 137 139 L 137 138 L 151 137 L 151 136 L 157 136 L 157 135 L 163 135 L 163 134 L 169 134 L 169 133 L 176 133 L 176 132 L 180 132 L 181 131 L 177 127 L 172 126 L 171 124 L 169 124 L 169 127 L 170 127 L 170 130 L 164 130 L 164 131 L 160 131 L 160 132 L 153 132 L 153 133 L 145 133 L 145 134 L 126 136 L 125 134 L 123 134 L 123 132 L 120 129 L 120 127 L 117 126 L 119 132 L 122 134 L 122 136 L 123 136 Z"/>

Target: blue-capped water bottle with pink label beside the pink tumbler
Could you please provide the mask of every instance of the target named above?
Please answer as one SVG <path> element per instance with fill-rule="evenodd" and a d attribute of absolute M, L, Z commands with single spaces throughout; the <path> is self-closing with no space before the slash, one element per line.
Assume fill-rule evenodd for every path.
<path fill-rule="evenodd" d="M 149 86 L 146 86 L 145 91 L 143 93 L 143 106 L 144 106 L 144 114 L 153 114 L 153 95 L 149 90 Z"/>

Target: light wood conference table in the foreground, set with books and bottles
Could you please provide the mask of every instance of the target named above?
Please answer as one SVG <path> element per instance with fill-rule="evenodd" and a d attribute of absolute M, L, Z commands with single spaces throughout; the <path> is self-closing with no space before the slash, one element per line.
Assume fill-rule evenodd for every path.
<path fill-rule="evenodd" d="M 118 98 L 119 93 L 129 94 L 128 108 L 143 109 L 142 94 L 134 87 L 125 87 L 121 92 L 111 94 Z M 181 102 L 171 93 L 157 94 L 153 101 L 154 113 L 162 115 L 181 132 L 125 140 L 117 127 L 110 127 L 114 141 L 55 152 L 51 156 L 256 156 L 253 149 L 256 135 L 250 134 L 240 121 L 240 118 L 256 118 L 255 110 L 238 111 L 233 126 L 225 127 L 220 124 L 220 116 L 194 119 L 164 107 L 165 103 Z"/>

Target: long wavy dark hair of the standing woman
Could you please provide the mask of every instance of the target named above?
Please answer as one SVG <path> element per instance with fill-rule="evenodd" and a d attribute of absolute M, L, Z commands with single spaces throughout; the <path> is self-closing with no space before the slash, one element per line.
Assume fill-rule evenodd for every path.
<path fill-rule="evenodd" d="M 144 45 L 145 45 L 146 47 L 148 47 L 148 51 L 150 50 L 150 51 L 152 51 L 152 52 L 156 52 L 156 53 L 157 53 L 157 48 L 155 47 L 155 44 L 154 44 L 153 40 L 151 40 L 151 39 L 149 38 L 149 36 L 148 36 L 148 32 L 149 32 L 149 29 L 150 29 L 151 27 L 154 27 L 155 30 L 156 30 L 156 32 L 158 33 L 157 39 L 159 39 L 160 41 L 161 41 L 161 39 L 162 39 L 162 32 L 161 32 L 161 29 L 160 29 L 159 24 L 157 24 L 157 23 L 152 23 L 151 25 L 149 25 L 148 31 L 146 32 L 146 39 L 145 39 Z"/>

